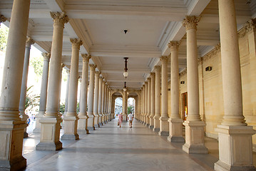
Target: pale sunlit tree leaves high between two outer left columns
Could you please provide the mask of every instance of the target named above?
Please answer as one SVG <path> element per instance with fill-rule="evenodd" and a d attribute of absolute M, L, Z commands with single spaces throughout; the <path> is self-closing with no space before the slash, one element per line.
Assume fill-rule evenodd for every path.
<path fill-rule="evenodd" d="M 43 57 L 42 56 L 34 56 L 29 59 L 29 66 L 34 68 L 36 73 L 36 82 L 39 82 L 43 75 Z"/>

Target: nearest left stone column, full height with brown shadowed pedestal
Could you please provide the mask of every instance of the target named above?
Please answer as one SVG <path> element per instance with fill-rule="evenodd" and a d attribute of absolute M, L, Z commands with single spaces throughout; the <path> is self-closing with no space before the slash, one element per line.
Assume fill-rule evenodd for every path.
<path fill-rule="evenodd" d="M 4 73 L 0 99 L 0 170 L 22 170 L 24 129 L 27 124 L 19 118 L 19 98 L 24 65 L 26 34 L 29 21 L 28 0 L 14 0 L 11 10 Z M 5 17 L 1 16 L 1 21 Z"/>

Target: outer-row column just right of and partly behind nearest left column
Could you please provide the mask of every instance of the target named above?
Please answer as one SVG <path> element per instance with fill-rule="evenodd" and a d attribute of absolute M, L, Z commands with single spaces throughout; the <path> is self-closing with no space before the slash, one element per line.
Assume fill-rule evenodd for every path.
<path fill-rule="evenodd" d="M 26 102 L 26 83 L 28 81 L 28 74 L 29 74 L 29 56 L 30 56 L 30 49 L 31 45 L 34 44 L 35 41 L 32 38 L 26 39 L 26 50 L 24 56 L 24 65 L 23 65 L 23 73 L 22 73 L 22 82 L 21 82 L 21 95 L 19 98 L 19 117 L 21 120 L 27 121 L 29 118 L 28 115 L 25 113 L 25 102 Z M 28 137 L 28 133 L 26 133 L 26 128 L 24 129 L 24 138 Z"/>

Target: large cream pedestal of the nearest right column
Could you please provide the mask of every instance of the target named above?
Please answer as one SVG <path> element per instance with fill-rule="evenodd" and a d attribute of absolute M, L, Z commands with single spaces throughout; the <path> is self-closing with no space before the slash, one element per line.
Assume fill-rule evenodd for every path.
<path fill-rule="evenodd" d="M 251 126 L 217 125 L 219 138 L 219 161 L 215 170 L 255 170 L 252 161 Z"/>

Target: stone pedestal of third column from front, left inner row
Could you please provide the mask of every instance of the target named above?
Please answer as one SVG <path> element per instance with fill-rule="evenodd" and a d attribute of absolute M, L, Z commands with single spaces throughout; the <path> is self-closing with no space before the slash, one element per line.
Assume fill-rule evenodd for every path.
<path fill-rule="evenodd" d="M 64 134 L 61 136 L 61 140 L 78 140 L 79 135 L 77 134 L 78 117 L 69 116 L 68 113 L 64 116 L 65 120 Z"/>

